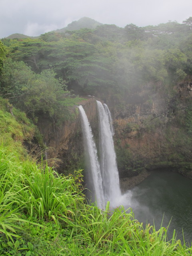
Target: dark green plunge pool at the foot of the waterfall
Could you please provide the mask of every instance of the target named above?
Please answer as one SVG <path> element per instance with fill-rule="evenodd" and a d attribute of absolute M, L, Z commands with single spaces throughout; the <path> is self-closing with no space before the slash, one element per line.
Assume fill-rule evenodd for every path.
<path fill-rule="evenodd" d="M 156 171 L 132 189 L 131 207 L 139 222 L 170 226 L 177 239 L 192 242 L 192 180 L 173 172 Z"/>

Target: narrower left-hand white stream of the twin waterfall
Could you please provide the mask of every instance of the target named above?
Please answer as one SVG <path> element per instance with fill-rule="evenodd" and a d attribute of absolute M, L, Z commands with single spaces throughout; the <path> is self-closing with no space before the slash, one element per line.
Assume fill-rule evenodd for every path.
<path fill-rule="evenodd" d="M 92 181 L 94 184 L 97 206 L 99 208 L 104 208 L 102 176 L 101 176 L 100 165 L 97 157 L 96 145 L 93 139 L 93 134 L 92 134 L 90 124 L 88 122 L 88 118 L 82 106 L 79 106 L 79 111 L 81 114 L 84 144 L 86 149 L 86 155 L 90 164 L 90 170 L 92 174 Z"/>

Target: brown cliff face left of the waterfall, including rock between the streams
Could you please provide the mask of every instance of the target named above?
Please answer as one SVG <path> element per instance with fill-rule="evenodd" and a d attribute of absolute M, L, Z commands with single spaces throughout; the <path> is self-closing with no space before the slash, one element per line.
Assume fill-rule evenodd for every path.
<path fill-rule="evenodd" d="M 96 101 L 93 98 L 79 102 L 84 107 L 90 124 L 95 130 L 97 120 Z M 68 174 L 84 168 L 84 148 L 80 114 L 78 107 L 71 108 L 70 120 L 56 126 L 45 117 L 39 118 L 38 127 L 44 135 L 48 147 L 47 158 L 50 165 L 56 165 L 58 172 Z"/>

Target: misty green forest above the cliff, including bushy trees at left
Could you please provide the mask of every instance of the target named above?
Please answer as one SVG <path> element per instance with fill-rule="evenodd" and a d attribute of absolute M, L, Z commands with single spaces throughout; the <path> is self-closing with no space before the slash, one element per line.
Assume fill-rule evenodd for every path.
<path fill-rule="evenodd" d="M 39 38 L 3 38 L 1 94 L 32 116 L 44 112 L 64 120 L 60 110 L 64 99 L 71 98 L 70 90 L 124 97 L 150 82 L 171 93 L 174 84 L 192 76 L 190 19 L 146 27 L 97 24 Z"/>

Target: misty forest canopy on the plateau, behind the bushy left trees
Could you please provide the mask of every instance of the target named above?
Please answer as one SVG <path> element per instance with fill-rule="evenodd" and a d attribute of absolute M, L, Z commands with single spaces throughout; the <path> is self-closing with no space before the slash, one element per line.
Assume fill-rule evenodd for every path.
<path fill-rule="evenodd" d="M 177 22 L 142 28 L 101 25 L 2 42 L 10 58 L 36 73 L 51 68 L 79 94 L 96 94 L 101 88 L 124 94 L 148 82 L 171 90 L 171 84 L 191 76 L 191 31 L 187 23 Z"/>

